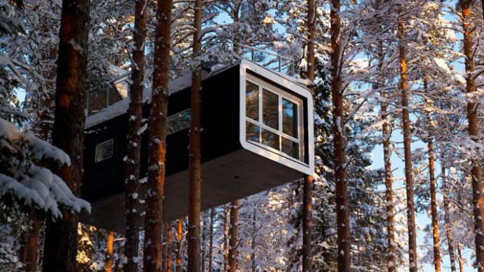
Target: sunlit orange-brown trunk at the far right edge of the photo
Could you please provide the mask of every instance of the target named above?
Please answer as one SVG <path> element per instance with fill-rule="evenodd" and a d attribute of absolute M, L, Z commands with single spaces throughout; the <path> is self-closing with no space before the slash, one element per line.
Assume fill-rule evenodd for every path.
<path fill-rule="evenodd" d="M 462 7 L 462 30 L 464 34 L 464 54 L 466 67 L 466 91 L 469 96 L 476 92 L 476 79 L 474 78 L 474 44 L 473 36 L 475 25 L 469 23 L 471 10 L 469 4 Z M 468 97 L 469 97 L 468 96 Z M 469 136 L 474 142 L 478 142 L 478 105 L 477 98 L 468 98 L 467 121 L 469 122 Z M 478 271 L 484 271 L 484 197 L 483 197 L 483 173 L 481 160 L 472 158 L 472 198 L 474 200 L 474 228 L 476 229 L 476 262 Z"/>

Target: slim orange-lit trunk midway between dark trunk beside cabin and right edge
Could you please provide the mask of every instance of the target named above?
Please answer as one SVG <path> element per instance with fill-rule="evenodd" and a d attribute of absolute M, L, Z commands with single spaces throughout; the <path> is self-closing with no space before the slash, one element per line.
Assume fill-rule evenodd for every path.
<path fill-rule="evenodd" d="M 406 212 L 409 232 L 409 268 L 417 272 L 417 239 L 415 227 L 415 206 L 413 205 L 413 176 L 410 146 L 410 118 L 409 118 L 409 85 L 406 80 L 406 56 L 403 45 L 405 39 L 404 22 L 398 20 L 399 59 L 400 59 L 400 91 L 402 91 L 402 122 L 404 135 L 405 183 L 406 183 Z"/>

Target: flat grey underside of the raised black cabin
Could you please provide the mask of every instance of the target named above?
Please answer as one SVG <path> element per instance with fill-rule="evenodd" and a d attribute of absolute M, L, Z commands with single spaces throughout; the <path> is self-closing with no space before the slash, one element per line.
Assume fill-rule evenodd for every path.
<path fill-rule="evenodd" d="M 301 179 L 301 175 L 295 169 L 239 149 L 202 164 L 202 210 Z M 188 170 L 166 177 L 163 220 L 175 220 L 188 214 L 188 178 Z M 143 184 L 140 195 L 145 195 L 145 188 Z M 81 216 L 82 222 L 124 232 L 124 193 L 93 202 L 91 207 L 89 216 Z M 140 206 L 140 209 L 144 211 L 145 207 Z"/>

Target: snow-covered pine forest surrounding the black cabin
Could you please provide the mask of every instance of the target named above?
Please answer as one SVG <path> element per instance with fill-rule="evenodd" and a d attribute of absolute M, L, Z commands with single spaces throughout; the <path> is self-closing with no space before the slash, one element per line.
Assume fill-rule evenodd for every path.
<path fill-rule="evenodd" d="M 0 271 L 484 272 L 483 29 L 482 0 L 0 0 Z M 314 174 L 203 209 L 203 71 L 242 59 L 311 94 Z M 163 220 L 180 78 L 188 213 Z M 81 195 L 119 105 L 124 232 Z"/>

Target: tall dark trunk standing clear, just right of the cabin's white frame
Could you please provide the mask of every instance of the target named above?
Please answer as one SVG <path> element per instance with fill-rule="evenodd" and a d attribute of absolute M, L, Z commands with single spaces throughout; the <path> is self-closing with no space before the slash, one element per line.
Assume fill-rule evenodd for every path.
<path fill-rule="evenodd" d="M 332 130 L 334 134 L 335 198 L 338 243 L 338 271 L 351 270 L 348 183 L 346 181 L 346 158 L 344 154 L 344 101 L 340 67 L 341 22 L 339 19 L 339 0 L 331 0 L 331 93 L 332 93 Z"/>

